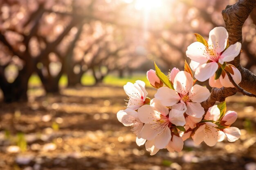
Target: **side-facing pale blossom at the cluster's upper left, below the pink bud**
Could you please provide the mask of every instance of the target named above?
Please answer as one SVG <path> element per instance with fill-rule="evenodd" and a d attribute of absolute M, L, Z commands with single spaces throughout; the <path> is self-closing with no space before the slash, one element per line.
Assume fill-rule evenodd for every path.
<path fill-rule="evenodd" d="M 148 93 L 145 89 L 145 83 L 137 80 L 134 84 L 128 82 L 124 85 L 124 91 L 129 96 L 127 107 L 132 110 L 137 110 L 139 107 L 145 104 Z"/>

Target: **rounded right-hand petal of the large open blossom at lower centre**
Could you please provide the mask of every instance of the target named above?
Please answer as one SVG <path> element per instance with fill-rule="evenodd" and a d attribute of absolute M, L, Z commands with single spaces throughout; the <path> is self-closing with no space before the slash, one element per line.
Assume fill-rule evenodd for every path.
<path fill-rule="evenodd" d="M 183 115 L 184 111 L 171 109 L 169 113 L 169 121 L 176 126 L 184 126 L 186 121 Z"/>

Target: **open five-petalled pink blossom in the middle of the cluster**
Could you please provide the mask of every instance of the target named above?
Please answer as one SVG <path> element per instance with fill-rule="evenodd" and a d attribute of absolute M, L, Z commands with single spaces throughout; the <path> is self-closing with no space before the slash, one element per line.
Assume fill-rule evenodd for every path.
<path fill-rule="evenodd" d="M 171 107 L 172 109 L 186 112 L 187 115 L 194 118 L 200 118 L 204 115 L 204 108 L 200 102 L 206 100 L 210 96 L 210 92 L 206 87 L 200 85 L 193 86 L 193 78 L 188 72 L 180 71 L 174 78 L 173 87 L 161 87 L 157 90 L 155 98 L 162 105 Z"/>

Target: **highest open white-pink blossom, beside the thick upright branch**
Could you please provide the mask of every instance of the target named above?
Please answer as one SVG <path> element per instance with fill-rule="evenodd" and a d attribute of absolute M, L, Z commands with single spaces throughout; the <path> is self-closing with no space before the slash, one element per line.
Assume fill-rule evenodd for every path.
<path fill-rule="evenodd" d="M 206 81 L 215 74 L 220 63 L 233 61 L 240 53 L 241 43 L 230 45 L 226 50 L 228 33 L 224 27 L 215 27 L 209 33 L 208 45 L 201 42 L 192 43 L 186 55 L 192 60 L 190 65 L 195 70 L 195 78 Z"/>

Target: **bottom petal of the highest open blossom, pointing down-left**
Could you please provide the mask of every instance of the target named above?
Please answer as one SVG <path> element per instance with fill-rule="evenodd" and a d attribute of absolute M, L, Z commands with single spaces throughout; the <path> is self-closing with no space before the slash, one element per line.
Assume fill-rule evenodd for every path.
<path fill-rule="evenodd" d="M 206 81 L 213 76 L 218 70 L 218 64 L 216 62 L 204 63 L 198 67 L 195 71 L 195 78 L 198 81 Z"/>

